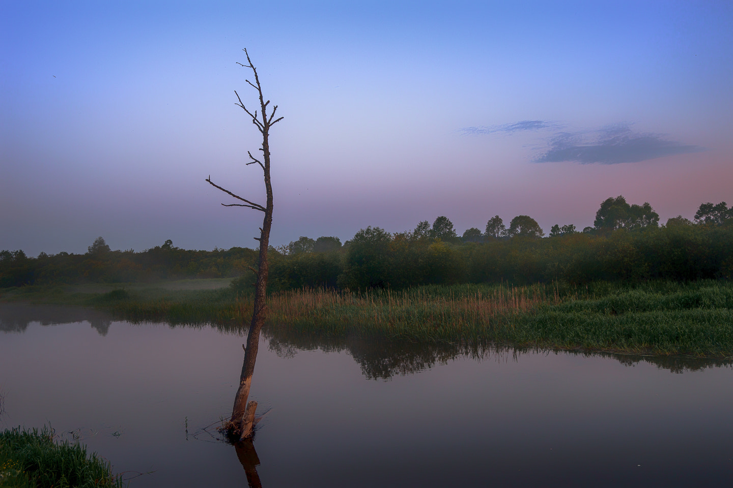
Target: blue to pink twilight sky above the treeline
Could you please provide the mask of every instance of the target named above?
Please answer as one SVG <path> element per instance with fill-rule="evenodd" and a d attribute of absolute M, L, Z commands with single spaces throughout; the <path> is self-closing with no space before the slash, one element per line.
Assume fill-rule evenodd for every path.
<path fill-rule="evenodd" d="M 733 204 L 728 1 L 0 1 L 0 249 L 256 247 Z"/>

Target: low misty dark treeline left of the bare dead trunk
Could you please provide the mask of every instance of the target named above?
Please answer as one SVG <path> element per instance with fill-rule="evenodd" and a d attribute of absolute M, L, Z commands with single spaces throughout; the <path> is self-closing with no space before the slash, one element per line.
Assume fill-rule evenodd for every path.
<path fill-rule="evenodd" d="M 142 252 L 112 251 L 98 238 L 85 254 L 0 251 L 0 288 L 79 282 L 147 282 L 160 279 L 241 276 L 257 258 L 243 247 L 194 251 L 166 241 Z"/>

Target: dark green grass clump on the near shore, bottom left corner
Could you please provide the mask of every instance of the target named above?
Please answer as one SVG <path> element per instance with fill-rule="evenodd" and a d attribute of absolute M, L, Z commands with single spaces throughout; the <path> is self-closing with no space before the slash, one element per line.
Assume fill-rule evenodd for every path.
<path fill-rule="evenodd" d="M 54 442 L 48 427 L 0 432 L 0 487 L 122 487 L 109 462 L 86 447 Z"/>

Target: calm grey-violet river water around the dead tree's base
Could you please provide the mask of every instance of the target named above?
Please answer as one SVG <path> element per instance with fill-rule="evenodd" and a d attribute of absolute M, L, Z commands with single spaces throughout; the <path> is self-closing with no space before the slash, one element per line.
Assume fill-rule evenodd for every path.
<path fill-rule="evenodd" d="M 254 453 L 205 430 L 231 411 L 241 334 L 7 304 L 0 329 L 0 427 L 78 436 L 115 471 L 144 473 L 130 487 L 247 486 L 240 457 Z M 275 330 L 252 396 L 270 409 L 254 438 L 266 488 L 733 486 L 733 370 L 720 361 Z"/>

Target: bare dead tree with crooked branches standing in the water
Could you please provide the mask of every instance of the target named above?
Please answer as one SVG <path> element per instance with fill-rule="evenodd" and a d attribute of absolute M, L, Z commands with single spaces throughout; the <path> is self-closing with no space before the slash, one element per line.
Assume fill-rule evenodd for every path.
<path fill-rule="evenodd" d="M 262 168 L 265 179 L 267 203 L 265 206 L 262 206 L 259 203 L 254 203 L 251 200 L 235 195 L 235 193 L 230 192 L 228 189 L 220 187 L 218 184 L 211 181 L 211 176 L 206 179 L 206 181 L 211 185 L 221 189 L 222 192 L 228 193 L 237 200 L 244 202 L 229 204 L 222 203 L 221 205 L 225 207 L 248 207 L 249 209 L 261 211 L 265 214 L 265 218 L 262 220 L 262 227 L 259 229 L 259 237 L 254 238 L 259 241 L 259 266 L 257 266 L 257 269 L 252 269 L 257 277 L 254 283 L 254 311 L 252 312 L 252 320 L 249 324 L 247 345 L 244 353 L 244 363 L 242 364 L 242 374 L 239 378 L 239 388 L 237 389 L 237 396 L 234 400 L 234 408 L 232 408 L 232 418 L 229 419 L 229 423 L 227 425 L 229 435 L 238 436 L 240 439 L 251 436 L 252 425 L 254 424 L 254 411 L 257 409 L 257 402 L 247 403 L 247 398 L 249 397 L 249 387 L 251 386 L 252 374 L 254 373 L 254 361 L 257 359 L 259 331 L 262 329 L 262 324 L 265 323 L 265 315 L 267 312 L 265 304 L 265 290 L 268 285 L 268 246 L 270 244 L 270 227 L 273 222 L 273 189 L 270 184 L 270 142 L 268 138 L 270 136 L 270 127 L 283 119 L 282 117 L 275 119 L 277 105 L 272 108 L 272 111 L 268 115 L 268 105 L 270 105 L 270 100 L 265 101 L 265 97 L 262 96 L 262 86 L 259 84 L 257 68 L 254 67 L 251 59 L 249 59 L 249 53 L 247 53 L 247 50 L 243 49 L 243 51 L 247 56 L 247 64 L 237 64 L 241 67 L 249 68 L 254 74 L 254 83 L 250 80 L 246 80 L 246 82 L 252 88 L 257 90 L 257 94 L 259 95 L 259 110 L 254 110 L 254 113 L 248 110 L 235 90 L 235 95 L 237 95 L 236 105 L 240 106 L 247 115 L 251 117 L 252 124 L 254 124 L 260 134 L 262 134 L 262 147 L 259 148 L 259 150 L 262 151 L 262 159 L 257 159 L 252 156 L 250 151 L 247 151 L 249 161 L 246 164 L 257 164 Z"/>

